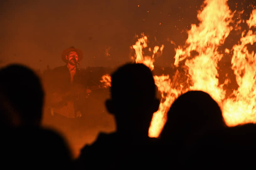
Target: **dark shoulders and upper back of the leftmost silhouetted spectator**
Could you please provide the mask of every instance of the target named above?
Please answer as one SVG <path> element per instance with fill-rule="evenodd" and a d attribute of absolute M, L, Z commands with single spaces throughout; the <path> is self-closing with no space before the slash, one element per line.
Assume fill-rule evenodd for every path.
<path fill-rule="evenodd" d="M 7 160 L 16 163 L 12 164 L 13 168 L 18 165 L 21 169 L 71 168 L 71 151 L 65 140 L 54 131 L 21 127 L 15 132 L 11 143 Z"/>

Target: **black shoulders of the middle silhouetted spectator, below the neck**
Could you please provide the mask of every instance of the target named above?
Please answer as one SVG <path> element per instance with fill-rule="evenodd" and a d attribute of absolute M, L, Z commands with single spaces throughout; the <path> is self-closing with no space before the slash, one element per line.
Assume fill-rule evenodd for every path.
<path fill-rule="evenodd" d="M 139 139 L 138 139 L 139 140 Z M 120 138 L 120 134 L 100 133 L 97 140 L 81 150 L 80 157 L 75 161 L 77 169 L 87 168 L 140 168 L 155 166 L 156 138 L 149 143 L 130 143 L 129 137 Z M 151 162 L 151 163 L 149 163 Z"/>

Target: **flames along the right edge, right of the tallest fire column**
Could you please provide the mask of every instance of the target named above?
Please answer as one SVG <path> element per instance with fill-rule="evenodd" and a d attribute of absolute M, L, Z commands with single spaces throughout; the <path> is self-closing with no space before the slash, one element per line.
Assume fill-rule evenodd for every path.
<path fill-rule="evenodd" d="M 249 31 L 242 33 L 240 43 L 232 48 L 232 69 L 236 75 L 238 89 L 233 90 L 233 98 L 223 103 L 223 117 L 227 125 L 234 126 L 242 123 L 256 123 L 256 55 L 249 53 L 247 44 L 256 42 L 256 35 L 250 30 L 256 26 L 256 10 L 252 11 L 247 20 Z"/>

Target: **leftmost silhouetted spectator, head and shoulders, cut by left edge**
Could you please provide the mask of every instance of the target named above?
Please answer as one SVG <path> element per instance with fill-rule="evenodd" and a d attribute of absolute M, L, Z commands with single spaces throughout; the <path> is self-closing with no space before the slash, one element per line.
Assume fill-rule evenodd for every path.
<path fill-rule="evenodd" d="M 70 167 L 71 155 L 63 138 L 40 126 L 44 101 L 40 79 L 18 64 L 2 68 L 0 78 L 4 101 L 0 110 L 9 115 L 13 127 L 2 136 L 2 165 L 10 169 Z"/>

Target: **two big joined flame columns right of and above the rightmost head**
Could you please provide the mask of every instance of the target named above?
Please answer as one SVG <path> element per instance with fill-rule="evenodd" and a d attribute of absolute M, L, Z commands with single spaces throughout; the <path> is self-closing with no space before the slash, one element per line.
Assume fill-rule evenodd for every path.
<path fill-rule="evenodd" d="M 256 42 L 256 35 L 252 30 L 246 35 L 243 32 L 238 45 L 234 45 L 231 50 L 225 49 L 225 53 L 233 54 L 232 69 L 239 86 L 237 90 L 233 90 L 230 97 L 226 97 L 223 85 L 228 84 L 229 80 L 219 84 L 217 68 L 223 54 L 218 52 L 218 48 L 223 45 L 232 29 L 241 28 L 230 26 L 230 23 L 234 22 L 234 13 L 229 10 L 227 0 L 205 0 L 204 3 L 205 8 L 197 16 L 200 25 L 191 25 L 186 41 L 188 47 L 176 49 L 174 64 L 178 66 L 180 61 L 186 59 L 185 65 L 189 67 L 189 74 L 194 83 L 189 89 L 209 93 L 222 108 L 223 118 L 228 126 L 256 123 L 256 62 L 254 52 L 249 53 L 247 48 L 248 44 L 253 45 Z M 238 23 L 241 23 L 241 20 Z M 256 10 L 252 11 L 246 23 L 249 29 L 256 25 Z M 190 59 L 191 52 L 195 51 L 197 55 Z"/>

